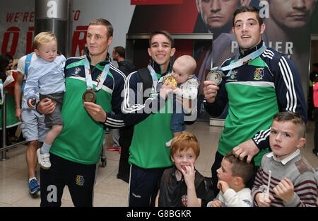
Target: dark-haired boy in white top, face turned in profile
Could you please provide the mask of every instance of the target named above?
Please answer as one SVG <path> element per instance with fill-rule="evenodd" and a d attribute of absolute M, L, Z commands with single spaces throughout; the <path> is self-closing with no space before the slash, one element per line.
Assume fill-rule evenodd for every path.
<path fill-rule="evenodd" d="M 217 170 L 220 193 L 208 203 L 208 207 L 252 207 L 251 190 L 247 182 L 254 176 L 254 160 L 241 161 L 232 152 L 225 154 Z"/>

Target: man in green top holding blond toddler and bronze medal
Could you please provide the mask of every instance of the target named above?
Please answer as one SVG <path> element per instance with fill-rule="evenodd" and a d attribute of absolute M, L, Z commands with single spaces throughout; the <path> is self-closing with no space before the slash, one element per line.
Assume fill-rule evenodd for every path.
<path fill-rule="evenodd" d="M 93 20 L 86 37 L 88 54 L 66 60 L 64 128 L 50 149 L 51 169 L 41 169 L 41 206 L 61 206 L 65 185 L 75 206 L 93 206 L 105 128 L 124 127 L 121 93 L 126 77 L 110 63 L 112 33 L 109 21 Z M 37 105 L 40 113 L 53 109 L 54 102 L 47 98 Z M 52 186 L 57 188 L 56 200 L 50 198 Z"/>

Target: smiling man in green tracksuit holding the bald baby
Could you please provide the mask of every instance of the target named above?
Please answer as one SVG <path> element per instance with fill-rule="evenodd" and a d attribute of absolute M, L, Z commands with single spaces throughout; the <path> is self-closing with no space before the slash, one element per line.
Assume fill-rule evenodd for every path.
<path fill-rule="evenodd" d="M 151 62 L 146 74 L 151 75 L 154 86 L 160 77 L 170 72 L 170 57 L 175 54 L 174 41 L 170 33 L 162 30 L 153 32 L 148 54 L 151 56 Z M 165 147 L 165 142 L 173 137 L 170 130 L 172 109 L 169 99 L 165 102 L 165 95 L 161 94 L 165 87 L 169 91 L 171 86 L 164 84 L 160 90 L 162 96 L 153 95 L 145 102 L 138 103 L 138 93 L 142 91 L 139 88 L 142 82 L 139 72 L 141 71 L 133 72 L 127 77 L 124 89 L 126 96 L 122 108 L 123 113 L 130 115 L 127 123 L 129 121 L 129 124 L 136 124 L 129 148 L 129 206 L 154 205 L 161 174 L 167 167 L 172 166 L 170 149 Z M 149 110 L 146 109 L 156 105 L 164 108 L 158 113 L 149 114 Z M 155 108 L 155 111 L 157 110 Z"/>

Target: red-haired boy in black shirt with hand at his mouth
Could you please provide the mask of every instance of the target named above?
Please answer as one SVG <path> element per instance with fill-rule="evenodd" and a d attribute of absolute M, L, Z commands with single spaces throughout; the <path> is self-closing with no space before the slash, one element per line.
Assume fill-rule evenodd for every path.
<path fill-rule="evenodd" d="M 201 206 L 206 188 L 204 176 L 194 169 L 199 154 L 199 142 L 192 133 L 184 132 L 172 140 L 170 157 L 175 166 L 163 172 L 155 206 Z"/>

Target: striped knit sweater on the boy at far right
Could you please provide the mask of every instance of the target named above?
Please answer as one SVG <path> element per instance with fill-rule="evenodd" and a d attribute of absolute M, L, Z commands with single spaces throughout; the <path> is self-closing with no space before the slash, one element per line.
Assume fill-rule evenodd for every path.
<path fill-rule="evenodd" d="M 254 206 L 258 206 L 255 200 L 257 193 L 266 192 L 270 170 L 269 194 L 275 198 L 271 201 L 271 206 L 317 207 L 318 177 L 312 166 L 299 154 L 299 150 L 285 162 L 276 161 L 273 158 L 273 153 L 264 154 L 252 188 Z M 290 179 L 294 185 L 294 196 L 288 203 L 278 198 L 273 191 L 273 188 L 285 177 Z"/>

